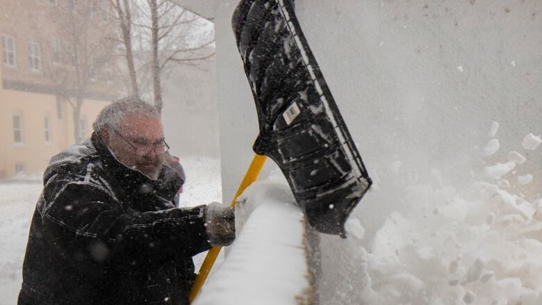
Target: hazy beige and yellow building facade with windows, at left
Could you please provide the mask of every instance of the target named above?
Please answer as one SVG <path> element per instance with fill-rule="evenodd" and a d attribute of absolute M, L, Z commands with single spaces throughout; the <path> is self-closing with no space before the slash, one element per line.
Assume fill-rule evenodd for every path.
<path fill-rule="evenodd" d="M 40 174 L 118 97 L 108 1 L 1 0 L 0 179 Z"/>

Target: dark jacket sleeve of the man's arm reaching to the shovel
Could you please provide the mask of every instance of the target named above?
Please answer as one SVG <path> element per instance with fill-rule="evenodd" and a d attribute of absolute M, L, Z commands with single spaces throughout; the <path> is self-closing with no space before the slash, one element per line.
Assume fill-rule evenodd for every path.
<path fill-rule="evenodd" d="M 136 213 L 124 211 L 106 190 L 84 182 L 46 186 L 44 238 L 82 272 L 104 267 L 153 267 L 211 248 L 204 206 Z"/>

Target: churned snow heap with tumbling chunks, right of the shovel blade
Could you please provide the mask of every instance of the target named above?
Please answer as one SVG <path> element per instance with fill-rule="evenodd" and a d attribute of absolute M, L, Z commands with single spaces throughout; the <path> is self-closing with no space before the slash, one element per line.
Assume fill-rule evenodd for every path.
<path fill-rule="evenodd" d="M 528 138 L 525 149 L 536 144 Z M 495 157 L 510 161 L 473 169 L 461 190 L 435 177 L 397 183 L 400 205 L 380 204 L 398 211 L 366 240 L 347 224 L 350 238 L 331 241 L 342 249 L 323 261 L 325 304 L 542 304 L 542 199 L 521 194 L 536 177 L 514 172 L 525 162 L 517 151 Z M 400 165 L 390 165 L 391 179 L 404 179 Z M 379 177 L 381 187 L 395 182 Z"/>

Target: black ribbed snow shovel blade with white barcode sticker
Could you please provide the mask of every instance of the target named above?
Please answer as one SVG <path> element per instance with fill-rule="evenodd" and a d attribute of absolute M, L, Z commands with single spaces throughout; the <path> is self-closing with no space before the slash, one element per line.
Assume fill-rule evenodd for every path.
<path fill-rule="evenodd" d="M 232 27 L 258 113 L 254 151 L 279 165 L 315 229 L 345 237 L 371 180 L 292 3 L 240 1 Z"/>

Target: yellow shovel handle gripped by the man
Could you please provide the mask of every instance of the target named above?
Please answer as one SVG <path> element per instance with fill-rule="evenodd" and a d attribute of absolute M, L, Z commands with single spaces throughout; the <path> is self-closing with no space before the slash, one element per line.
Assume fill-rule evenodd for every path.
<path fill-rule="evenodd" d="M 252 159 L 252 163 L 250 163 L 250 166 L 247 170 L 247 173 L 245 174 L 245 178 L 241 182 L 236 195 L 233 197 L 233 200 L 231 201 L 231 206 L 236 205 L 236 199 L 243 193 L 245 188 L 250 185 L 250 183 L 254 182 L 256 178 L 258 177 L 258 174 L 260 174 L 261 168 L 263 167 L 263 164 L 265 163 L 266 156 L 255 154 L 254 158 Z M 207 256 L 205 256 L 205 260 L 202 264 L 202 267 L 199 268 L 199 272 L 196 277 L 196 281 L 194 282 L 194 285 L 192 286 L 192 289 L 190 289 L 190 293 L 188 294 L 188 300 L 190 303 L 194 301 L 194 299 L 197 297 L 197 294 L 199 293 L 199 290 L 202 289 L 203 284 L 205 283 L 205 280 L 207 279 L 207 276 L 209 272 L 211 271 L 211 267 L 213 267 L 213 264 L 216 261 L 216 258 L 218 257 L 218 254 L 220 253 L 220 249 L 222 247 L 213 247 L 211 250 L 207 252 Z"/>

